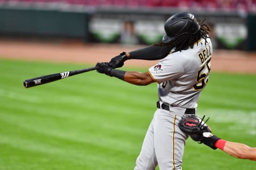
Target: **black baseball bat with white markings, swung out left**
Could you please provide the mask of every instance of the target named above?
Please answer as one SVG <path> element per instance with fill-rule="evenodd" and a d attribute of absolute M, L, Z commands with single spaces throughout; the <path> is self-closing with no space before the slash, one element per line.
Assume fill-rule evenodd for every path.
<path fill-rule="evenodd" d="M 89 71 L 96 70 L 96 69 L 97 69 L 97 67 L 94 66 L 94 67 L 89 67 L 89 68 L 86 68 L 86 69 L 80 69 L 80 70 L 73 70 L 73 71 L 62 72 L 62 73 L 54 73 L 54 74 L 49 74 L 49 75 L 43 75 L 41 77 L 25 80 L 23 82 L 23 86 L 25 88 L 39 86 L 41 84 L 50 83 L 50 82 L 53 82 L 53 81 L 65 79 L 65 78 L 68 78 L 72 75 L 81 74 L 81 73 L 89 72 Z"/>

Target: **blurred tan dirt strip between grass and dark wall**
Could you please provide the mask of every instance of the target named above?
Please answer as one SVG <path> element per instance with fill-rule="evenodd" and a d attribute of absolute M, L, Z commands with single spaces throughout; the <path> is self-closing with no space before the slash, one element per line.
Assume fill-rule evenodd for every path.
<path fill-rule="evenodd" d="M 113 44 L 85 44 L 79 41 L 39 42 L 25 40 L 0 40 L 0 58 L 65 63 L 108 62 L 119 53 L 130 52 L 145 46 Z M 149 67 L 156 61 L 129 60 L 127 66 Z M 217 72 L 256 73 L 256 52 L 214 50 L 212 70 Z"/>

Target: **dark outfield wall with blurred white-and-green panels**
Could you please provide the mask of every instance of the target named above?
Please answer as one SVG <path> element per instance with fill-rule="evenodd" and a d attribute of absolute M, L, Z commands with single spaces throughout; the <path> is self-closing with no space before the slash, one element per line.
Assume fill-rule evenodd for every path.
<path fill-rule="evenodd" d="M 0 5 L 2 37 L 75 38 L 93 43 L 152 44 L 161 41 L 175 8 L 86 8 L 79 6 Z M 255 51 L 255 14 L 188 11 L 210 25 L 219 49 Z M 130 31 L 130 32 L 125 32 Z M 127 36 L 130 33 L 130 36 Z"/>

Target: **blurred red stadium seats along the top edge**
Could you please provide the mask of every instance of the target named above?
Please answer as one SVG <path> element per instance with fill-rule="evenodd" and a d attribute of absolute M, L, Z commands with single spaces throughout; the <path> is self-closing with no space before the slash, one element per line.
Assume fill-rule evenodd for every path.
<path fill-rule="evenodd" d="M 256 12 L 256 0 L 0 0 L 0 3 L 60 3 L 88 7 L 174 7 L 210 11 Z"/>

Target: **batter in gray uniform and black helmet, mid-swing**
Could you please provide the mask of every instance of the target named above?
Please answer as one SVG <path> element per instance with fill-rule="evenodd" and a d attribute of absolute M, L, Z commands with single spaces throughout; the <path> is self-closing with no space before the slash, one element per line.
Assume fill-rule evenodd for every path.
<path fill-rule="evenodd" d="M 138 86 L 157 83 L 158 101 L 134 169 L 182 169 L 188 135 L 178 128 L 186 114 L 196 114 L 205 88 L 213 54 L 209 28 L 191 13 L 171 16 L 164 25 L 162 42 L 134 53 L 121 53 L 109 63 L 97 63 L 97 71 Z M 154 52 L 155 50 L 155 52 Z M 149 54 L 151 53 L 152 54 Z M 146 56 L 142 57 L 142 54 Z M 153 55 L 154 54 L 154 55 Z M 158 60 L 148 71 L 117 70 L 129 59 Z"/>

